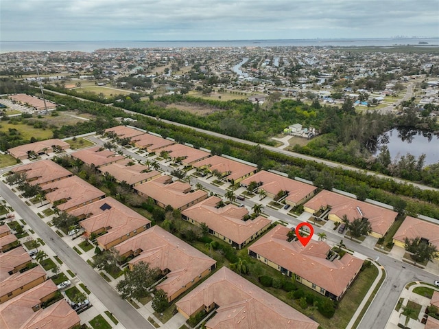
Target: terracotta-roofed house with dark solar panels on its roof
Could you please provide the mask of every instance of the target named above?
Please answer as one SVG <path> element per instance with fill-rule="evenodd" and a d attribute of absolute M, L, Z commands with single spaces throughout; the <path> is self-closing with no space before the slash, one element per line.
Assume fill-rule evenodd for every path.
<path fill-rule="evenodd" d="M 88 218 L 82 220 L 80 225 L 88 236 L 97 236 L 97 245 L 102 249 L 110 249 L 151 226 L 151 220 L 111 197 L 95 201 L 84 208 L 83 211 L 81 208 L 75 209 L 73 213 L 88 214 Z"/>

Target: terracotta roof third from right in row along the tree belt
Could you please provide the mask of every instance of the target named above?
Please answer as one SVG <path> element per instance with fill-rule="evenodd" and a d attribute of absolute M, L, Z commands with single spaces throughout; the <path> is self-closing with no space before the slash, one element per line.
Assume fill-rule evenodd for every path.
<path fill-rule="evenodd" d="M 288 191 L 289 193 L 286 199 L 293 203 L 300 202 L 305 196 L 317 190 L 316 186 L 294 181 L 294 179 L 289 179 L 265 170 L 261 170 L 244 179 L 241 181 L 241 185 L 249 185 L 252 181 L 262 183 L 259 188 L 270 194 L 276 195 L 281 190 Z"/>

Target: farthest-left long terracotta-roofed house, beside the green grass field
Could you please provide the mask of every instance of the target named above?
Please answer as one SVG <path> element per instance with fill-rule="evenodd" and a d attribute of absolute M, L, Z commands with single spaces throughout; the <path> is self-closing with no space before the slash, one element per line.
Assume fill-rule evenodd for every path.
<path fill-rule="evenodd" d="M 8 149 L 8 152 L 15 159 L 24 160 L 51 152 L 61 152 L 62 150 L 67 150 L 67 148 L 70 148 L 69 143 L 61 139 L 47 139 L 45 141 L 36 141 L 35 143 L 16 146 Z"/>

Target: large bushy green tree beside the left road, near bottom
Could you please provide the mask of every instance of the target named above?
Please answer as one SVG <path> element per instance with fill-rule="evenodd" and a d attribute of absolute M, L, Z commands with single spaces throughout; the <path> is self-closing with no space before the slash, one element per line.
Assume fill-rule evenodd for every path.
<path fill-rule="evenodd" d="M 137 262 L 130 271 L 126 272 L 124 280 L 116 286 L 122 298 L 140 299 L 150 294 L 150 287 L 160 277 L 158 268 L 150 268 L 147 262 Z"/>

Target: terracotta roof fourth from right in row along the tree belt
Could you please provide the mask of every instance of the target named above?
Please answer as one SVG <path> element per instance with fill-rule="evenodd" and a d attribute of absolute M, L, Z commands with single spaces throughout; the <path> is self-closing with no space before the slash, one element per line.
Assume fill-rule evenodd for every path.
<path fill-rule="evenodd" d="M 226 159 L 224 157 L 219 157 L 217 155 L 195 162 L 193 163 L 193 166 L 195 168 L 209 166 L 209 170 L 211 172 L 216 169 L 221 173 L 230 173 L 228 174 L 227 178 L 234 180 L 245 177 L 246 175 L 251 174 L 252 172 L 256 172 L 257 170 L 257 168 L 253 166 L 249 166 L 245 163 L 240 163 L 238 161 Z"/>

